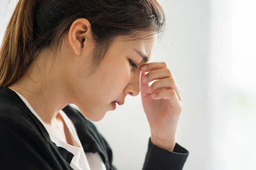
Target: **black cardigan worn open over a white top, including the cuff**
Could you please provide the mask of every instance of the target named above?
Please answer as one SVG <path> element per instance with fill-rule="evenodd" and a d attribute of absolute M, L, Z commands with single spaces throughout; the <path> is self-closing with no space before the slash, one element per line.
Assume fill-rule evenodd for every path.
<path fill-rule="evenodd" d="M 66 106 L 63 111 L 74 122 L 86 152 L 98 152 L 107 170 L 112 165 L 112 151 L 96 127 L 79 111 Z M 0 169 L 70 170 L 73 154 L 54 144 L 45 127 L 11 89 L 0 89 Z M 181 170 L 189 153 L 176 144 L 170 152 L 150 140 L 143 170 Z"/>

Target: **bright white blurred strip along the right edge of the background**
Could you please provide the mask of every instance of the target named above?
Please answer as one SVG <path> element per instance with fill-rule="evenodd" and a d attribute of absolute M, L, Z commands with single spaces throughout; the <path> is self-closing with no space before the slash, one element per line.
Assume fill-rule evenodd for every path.
<path fill-rule="evenodd" d="M 212 0 L 210 170 L 256 169 L 256 1 Z"/>

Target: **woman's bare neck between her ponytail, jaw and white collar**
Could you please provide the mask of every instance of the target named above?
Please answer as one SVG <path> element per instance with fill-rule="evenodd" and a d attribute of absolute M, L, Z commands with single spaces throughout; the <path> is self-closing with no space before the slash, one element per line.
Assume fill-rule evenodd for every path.
<path fill-rule="evenodd" d="M 39 53 L 24 76 L 9 87 L 24 96 L 47 124 L 52 124 L 58 111 L 70 103 L 61 67 L 53 58 Z"/>

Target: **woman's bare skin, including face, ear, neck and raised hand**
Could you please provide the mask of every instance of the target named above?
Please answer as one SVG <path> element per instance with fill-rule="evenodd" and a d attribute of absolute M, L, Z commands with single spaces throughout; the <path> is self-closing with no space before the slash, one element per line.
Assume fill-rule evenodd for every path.
<path fill-rule="evenodd" d="M 52 126 L 64 142 L 65 123 L 58 111 L 76 104 L 90 120 L 99 121 L 115 109 L 113 101 L 124 103 L 127 95 L 141 92 L 144 111 L 151 130 L 151 142 L 173 150 L 175 132 L 182 110 L 180 87 L 164 62 L 146 63 L 152 55 L 157 35 L 147 39 L 119 36 L 108 49 L 101 65 L 89 74 L 94 41 L 90 22 L 75 20 L 59 52 L 40 50 L 26 74 L 9 88 L 24 96 L 42 120 Z M 135 66 L 136 65 L 136 66 Z M 151 86 L 148 83 L 155 81 Z M 151 89 L 151 90 L 150 90 Z"/>

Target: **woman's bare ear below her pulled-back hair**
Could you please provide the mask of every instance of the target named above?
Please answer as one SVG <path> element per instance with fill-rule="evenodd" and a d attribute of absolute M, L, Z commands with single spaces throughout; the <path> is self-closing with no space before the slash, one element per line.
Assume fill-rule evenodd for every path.
<path fill-rule="evenodd" d="M 92 40 L 92 28 L 90 22 L 85 18 L 75 20 L 70 26 L 68 41 L 76 56 L 81 55 L 81 50 L 90 40 Z"/>

